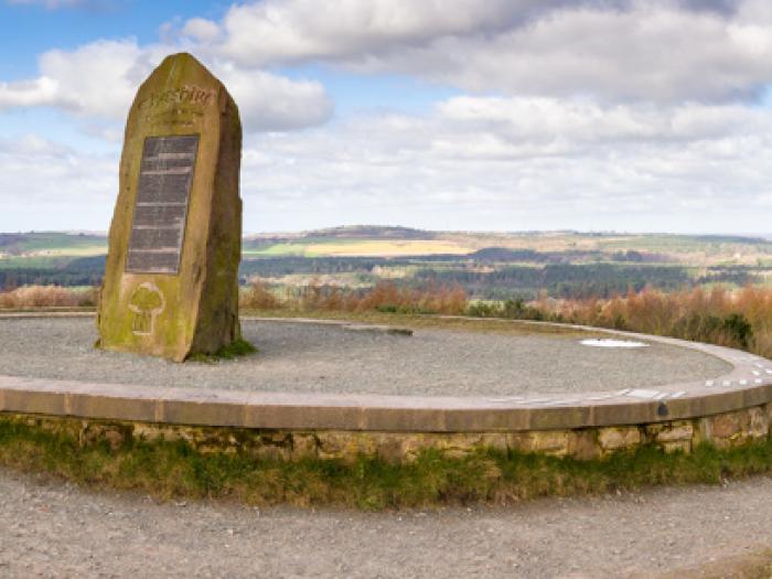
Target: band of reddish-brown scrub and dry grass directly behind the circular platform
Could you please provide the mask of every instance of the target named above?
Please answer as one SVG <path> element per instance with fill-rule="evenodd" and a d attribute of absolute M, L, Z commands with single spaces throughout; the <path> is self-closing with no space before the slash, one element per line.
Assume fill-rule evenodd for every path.
<path fill-rule="evenodd" d="M 97 298 L 96 288 L 24 286 L 0 292 L 0 310 L 93 307 Z M 647 288 L 610 300 L 551 300 L 544 294 L 530 303 L 471 303 L 458 286 L 416 289 L 386 280 L 367 290 L 355 290 L 314 280 L 278 296 L 255 278 L 242 292 L 239 304 L 246 311 L 321 317 L 435 313 L 558 321 L 708 342 L 772 358 L 772 288 L 759 286 L 669 293 Z"/>

